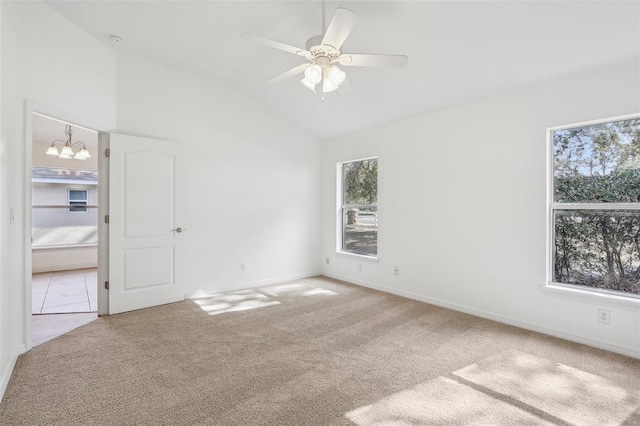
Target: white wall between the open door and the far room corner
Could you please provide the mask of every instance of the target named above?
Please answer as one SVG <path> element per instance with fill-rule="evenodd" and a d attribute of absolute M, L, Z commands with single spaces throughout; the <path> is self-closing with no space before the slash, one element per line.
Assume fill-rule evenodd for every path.
<path fill-rule="evenodd" d="M 117 125 L 186 149 L 187 297 L 319 273 L 316 141 L 228 85 L 131 57 Z"/>

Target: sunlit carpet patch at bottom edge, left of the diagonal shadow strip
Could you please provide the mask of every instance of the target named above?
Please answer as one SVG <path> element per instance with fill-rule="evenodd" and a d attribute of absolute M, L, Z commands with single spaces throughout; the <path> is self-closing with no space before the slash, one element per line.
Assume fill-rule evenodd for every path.
<path fill-rule="evenodd" d="M 421 383 L 346 414 L 359 426 L 416 424 L 552 425 L 446 377 Z"/>

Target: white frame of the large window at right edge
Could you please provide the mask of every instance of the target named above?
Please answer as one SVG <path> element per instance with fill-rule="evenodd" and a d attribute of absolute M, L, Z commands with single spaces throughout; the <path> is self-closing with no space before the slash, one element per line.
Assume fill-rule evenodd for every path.
<path fill-rule="evenodd" d="M 599 289 L 579 284 L 569 284 L 554 281 L 554 242 L 555 242 L 555 212 L 558 210 L 634 210 L 640 214 L 640 202 L 638 203 L 557 203 L 554 201 L 555 182 L 555 152 L 553 135 L 557 131 L 575 129 L 580 127 L 595 126 L 598 124 L 611 123 L 616 121 L 640 119 L 640 113 L 622 116 L 608 117 L 597 120 L 584 121 L 547 128 L 547 217 L 546 217 L 546 283 L 545 289 L 570 294 L 569 297 L 577 298 L 578 295 L 590 297 L 596 296 L 599 300 L 619 302 L 623 305 L 632 303 L 640 304 L 640 295 L 633 293 L 623 293 L 620 291 Z"/>

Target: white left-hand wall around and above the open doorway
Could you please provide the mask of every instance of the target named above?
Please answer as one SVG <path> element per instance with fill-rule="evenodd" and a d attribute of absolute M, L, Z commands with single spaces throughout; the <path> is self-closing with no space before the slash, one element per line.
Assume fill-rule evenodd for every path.
<path fill-rule="evenodd" d="M 115 125 L 116 56 L 41 2 L 0 2 L 0 394 L 26 347 L 31 267 L 28 225 L 26 105 L 89 128 Z M 29 141 L 29 145 L 31 141 Z M 13 210 L 13 221 L 9 212 Z"/>

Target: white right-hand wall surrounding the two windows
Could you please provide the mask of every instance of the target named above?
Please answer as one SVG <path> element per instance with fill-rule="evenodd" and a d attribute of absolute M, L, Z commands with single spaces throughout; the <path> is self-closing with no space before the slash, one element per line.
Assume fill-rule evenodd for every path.
<path fill-rule="evenodd" d="M 640 111 L 639 75 L 638 60 L 615 64 L 323 144 L 323 273 L 640 357 L 640 305 L 542 288 L 545 130 Z M 379 263 L 358 272 L 335 254 L 335 164 L 369 156 Z"/>

